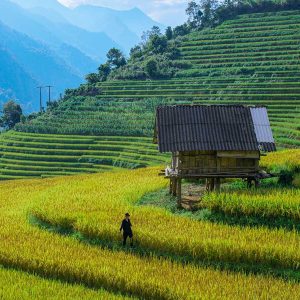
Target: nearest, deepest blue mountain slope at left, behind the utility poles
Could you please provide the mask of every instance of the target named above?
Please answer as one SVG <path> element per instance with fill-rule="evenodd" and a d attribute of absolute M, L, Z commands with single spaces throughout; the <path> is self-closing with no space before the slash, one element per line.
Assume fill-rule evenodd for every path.
<path fill-rule="evenodd" d="M 12 66 L 14 66 L 6 73 L 2 64 L 5 66 L 7 63 L 1 61 L 1 77 L 6 77 L 6 86 L 14 91 L 26 110 L 38 108 L 32 104 L 36 84 L 55 86 L 54 96 L 57 97 L 66 87 L 74 87 L 82 82 L 81 77 L 47 46 L 1 23 L 0 47 L 2 52 L 6 53 L 6 57 L 13 58 Z M 22 70 L 29 75 L 25 78 L 30 77 L 31 81 L 28 78 L 27 83 L 23 82 Z"/>

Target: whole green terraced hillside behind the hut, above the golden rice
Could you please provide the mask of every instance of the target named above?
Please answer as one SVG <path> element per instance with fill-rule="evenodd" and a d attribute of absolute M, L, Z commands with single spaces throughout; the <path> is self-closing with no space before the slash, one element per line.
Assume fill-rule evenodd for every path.
<path fill-rule="evenodd" d="M 2 134 L 0 178 L 164 164 L 151 138 L 164 103 L 265 105 L 278 148 L 300 146 L 300 11 L 241 15 L 179 49 L 171 79 L 99 82 Z"/>

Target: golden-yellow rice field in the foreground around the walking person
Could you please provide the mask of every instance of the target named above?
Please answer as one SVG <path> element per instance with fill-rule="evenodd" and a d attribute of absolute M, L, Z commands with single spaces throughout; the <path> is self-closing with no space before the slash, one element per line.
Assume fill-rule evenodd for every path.
<path fill-rule="evenodd" d="M 299 274 L 296 231 L 213 224 L 136 205 L 166 186 L 158 171 L 1 182 L 0 298 L 298 299 L 300 284 L 291 278 L 243 270 Z M 126 211 L 140 251 L 105 247 L 120 243 Z M 75 233 L 36 226 L 33 216 Z M 89 243 L 95 238 L 102 243 Z M 239 267 L 216 268 L 222 264 Z"/>

